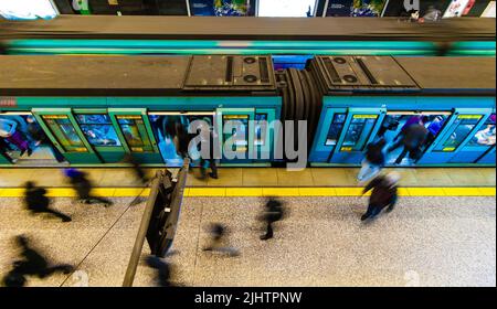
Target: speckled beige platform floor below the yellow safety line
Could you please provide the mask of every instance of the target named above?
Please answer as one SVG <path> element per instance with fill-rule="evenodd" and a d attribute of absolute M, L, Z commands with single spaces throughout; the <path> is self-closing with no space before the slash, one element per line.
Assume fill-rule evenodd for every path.
<path fill-rule="evenodd" d="M 53 262 L 77 266 L 70 275 L 30 286 L 120 286 L 144 204 L 54 206 L 72 223 L 42 220 L 21 209 L 19 199 L 0 199 L 0 276 L 17 258 L 12 237 L 25 234 Z M 187 198 L 175 241 L 172 280 L 182 286 L 495 286 L 496 200 L 491 198 L 402 198 L 390 214 L 363 224 L 366 198 L 284 198 L 288 217 L 275 238 L 258 239 L 255 219 L 262 198 Z M 202 251 L 205 227 L 220 222 L 226 257 Z M 144 257 L 147 247 L 144 247 Z M 135 286 L 155 286 L 142 263 Z"/>

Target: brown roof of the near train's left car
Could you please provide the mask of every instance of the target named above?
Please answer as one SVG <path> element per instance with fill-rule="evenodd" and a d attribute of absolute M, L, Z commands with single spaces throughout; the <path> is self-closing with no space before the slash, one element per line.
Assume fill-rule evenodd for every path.
<path fill-rule="evenodd" d="M 161 96 L 275 92 L 268 56 L 0 56 L 0 95 Z"/>

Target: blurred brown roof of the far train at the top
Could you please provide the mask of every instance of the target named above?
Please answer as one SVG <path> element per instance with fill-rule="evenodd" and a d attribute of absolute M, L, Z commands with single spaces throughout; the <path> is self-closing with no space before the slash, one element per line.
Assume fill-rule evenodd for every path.
<path fill-rule="evenodd" d="M 53 20 L 0 20 L 6 38 L 163 40 L 389 40 L 495 41 L 495 20 L 464 18 L 437 23 L 396 18 L 220 18 L 60 15 Z"/>

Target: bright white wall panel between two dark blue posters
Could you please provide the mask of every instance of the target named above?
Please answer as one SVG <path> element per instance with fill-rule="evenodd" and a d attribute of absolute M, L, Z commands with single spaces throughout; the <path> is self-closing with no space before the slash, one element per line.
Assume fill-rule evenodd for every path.
<path fill-rule="evenodd" d="M 260 0 L 257 15 L 264 18 L 313 17 L 316 0 Z"/>

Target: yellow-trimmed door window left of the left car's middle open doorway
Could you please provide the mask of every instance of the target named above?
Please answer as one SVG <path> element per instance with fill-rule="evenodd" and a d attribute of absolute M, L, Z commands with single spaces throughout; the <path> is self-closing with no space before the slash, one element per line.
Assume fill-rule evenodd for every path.
<path fill-rule="evenodd" d="M 150 139 L 140 115 L 119 115 L 117 121 L 133 152 L 152 152 Z"/>

